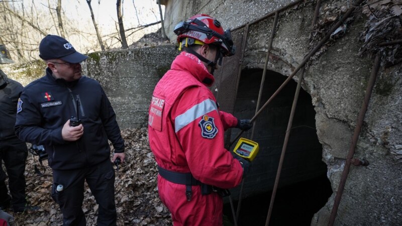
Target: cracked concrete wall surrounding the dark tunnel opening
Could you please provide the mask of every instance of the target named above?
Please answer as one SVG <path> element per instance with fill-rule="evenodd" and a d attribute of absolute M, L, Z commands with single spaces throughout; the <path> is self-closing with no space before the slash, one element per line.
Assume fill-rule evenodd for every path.
<path fill-rule="evenodd" d="M 178 1 L 167 2 L 165 26 L 170 32 L 180 20 L 195 13 L 216 17 L 224 28 L 251 22 L 292 1 Z M 335 16 L 331 9 L 348 7 L 347 1 L 323 1 L 320 17 Z M 315 1 L 306 1 L 279 15 L 268 70 L 289 75 L 321 38 L 309 36 Z M 314 216 L 312 225 L 326 225 L 345 159 L 356 126 L 373 58 L 358 57 L 358 41 L 367 18 L 357 9 L 346 34 L 328 42 L 306 68 L 302 87 L 312 96 L 316 128 L 323 145 L 323 161 L 333 195 Z M 263 68 L 273 17 L 250 26 L 243 68 Z M 170 23 L 170 24 L 169 24 Z M 318 37 L 330 28 L 321 27 Z M 242 32 L 242 31 L 240 31 Z M 320 34 L 321 32 L 321 34 Z M 240 47 L 239 47 L 240 48 Z M 402 67 L 381 68 L 364 119 L 354 157 L 365 158 L 367 167 L 352 166 L 335 225 L 402 224 Z M 297 79 L 295 79 L 297 80 Z"/>

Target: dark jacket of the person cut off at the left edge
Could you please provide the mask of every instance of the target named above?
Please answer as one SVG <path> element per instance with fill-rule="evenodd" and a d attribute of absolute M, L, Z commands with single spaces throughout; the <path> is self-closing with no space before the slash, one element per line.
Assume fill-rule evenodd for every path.
<path fill-rule="evenodd" d="M 17 102 L 24 87 L 0 70 L 0 140 L 17 139 L 14 132 Z"/>

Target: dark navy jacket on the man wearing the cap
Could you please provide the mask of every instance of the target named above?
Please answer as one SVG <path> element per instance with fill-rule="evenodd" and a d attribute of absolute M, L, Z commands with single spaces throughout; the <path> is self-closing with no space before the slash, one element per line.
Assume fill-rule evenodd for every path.
<path fill-rule="evenodd" d="M 61 129 L 67 120 L 76 117 L 77 97 L 84 134 L 78 141 L 67 142 Z M 116 153 L 124 152 L 115 112 L 103 88 L 93 79 L 81 77 L 66 82 L 55 79 L 47 68 L 44 77 L 24 88 L 20 101 L 16 134 L 25 142 L 44 145 L 52 169 L 85 168 L 109 159 L 108 139 Z"/>

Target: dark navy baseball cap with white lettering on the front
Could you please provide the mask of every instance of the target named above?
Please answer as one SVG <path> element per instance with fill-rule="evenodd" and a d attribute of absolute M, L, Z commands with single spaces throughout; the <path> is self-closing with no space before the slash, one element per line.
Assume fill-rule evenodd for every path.
<path fill-rule="evenodd" d="M 68 63 L 79 63 L 86 58 L 78 53 L 64 38 L 57 35 L 47 35 L 39 44 L 39 57 L 44 60 L 61 59 Z"/>

